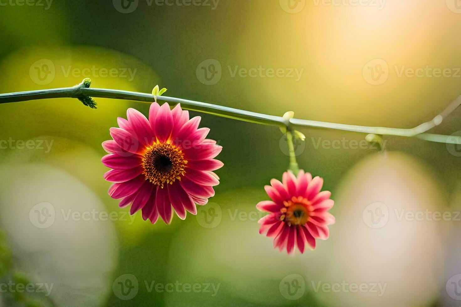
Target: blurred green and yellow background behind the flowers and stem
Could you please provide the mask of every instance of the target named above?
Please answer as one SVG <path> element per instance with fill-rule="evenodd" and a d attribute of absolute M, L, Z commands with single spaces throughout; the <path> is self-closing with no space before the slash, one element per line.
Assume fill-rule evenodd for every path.
<path fill-rule="evenodd" d="M 456 0 L 167 3 L 0 0 L 0 93 L 68 87 L 90 77 L 97 88 L 150 93 L 159 84 L 168 88 L 166 96 L 270 115 L 292 110 L 296 118 L 402 128 L 431 120 L 461 94 Z M 378 81 L 376 63 L 388 74 Z M 426 67 L 448 69 L 447 75 L 412 76 Z M 315 251 L 289 256 L 258 234 L 255 209 L 268 199 L 264 185 L 280 180 L 288 165 L 278 128 L 191 112 L 224 147 L 220 185 L 197 217 L 151 225 L 137 214 L 131 219 L 108 197 L 100 163 L 100 144 L 117 117 L 130 107 L 147 115 L 149 106 L 95 100 L 97 110 L 71 98 L 0 105 L 0 140 L 16 144 L 0 150 L 0 243 L 6 246 L 0 261 L 9 267 L 1 281 L 20 273 L 33 284 L 54 284 L 49 296 L 0 291 L 0 306 L 30 300 L 46 306 L 459 306 L 449 286 L 461 273 L 460 221 L 395 214 L 461 209 L 461 154 L 454 145 L 384 137 L 384 151 L 357 149 L 353 142 L 365 134 L 304 129 L 298 162 L 324 178 L 337 224 Z M 460 117 L 455 111 L 431 132 L 461 135 Z M 18 140 L 34 146 L 20 148 Z M 346 145 L 328 145 L 338 140 Z M 389 222 L 378 229 L 362 216 L 375 202 L 389 209 Z M 31 222 L 41 203 L 55 210 L 54 223 L 44 228 Z M 68 212 L 94 210 L 115 218 L 66 220 Z M 216 220 L 208 224 L 213 212 Z M 299 297 L 284 289 L 291 274 L 304 283 Z M 387 288 L 381 296 L 316 291 L 318 282 L 343 281 Z M 122 293 L 119 282 L 136 294 Z M 152 288 L 158 283 L 200 284 L 201 290 Z"/>

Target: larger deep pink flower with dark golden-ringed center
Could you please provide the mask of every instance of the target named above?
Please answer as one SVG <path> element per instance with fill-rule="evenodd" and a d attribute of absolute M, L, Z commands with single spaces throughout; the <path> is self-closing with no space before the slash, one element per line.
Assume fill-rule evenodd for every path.
<path fill-rule="evenodd" d="M 213 159 L 222 147 L 206 139 L 209 128 L 198 129 L 200 116 L 189 120 L 189 112 L 178 104 L 170 110 L 153 103 L 149 119 L 135 109 L 128 120 L 118 118 L 120 128 L 111 128 L 113 140 L 102 147 L 109 155 L 102 163 L 112 170 L 104 174 L 114 182 L 109 195 L 131 204 L 130 214 L 142 210 L 142 218 L 154 224 L 160 217 L 169 224 L 172 210 L 181 219 L 186 210 L 197 214 L 195 203 L 204 205 L 214 196 L 219 177 L 212 171 L 223 166 Z"/>

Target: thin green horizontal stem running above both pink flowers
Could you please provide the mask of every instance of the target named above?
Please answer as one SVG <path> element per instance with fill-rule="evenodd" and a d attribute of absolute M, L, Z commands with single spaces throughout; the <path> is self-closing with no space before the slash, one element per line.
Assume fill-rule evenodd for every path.
<path fill-rule="evenodd" d="M 105 88 L 89 88 L 89 80 L 85 79 L 82 83 L 74 87 L 0 94 L 0 104 L 47 98 L 78 98 L 84 104 L 89 105 L 85 103 L 86 99 L 90 99 L 89 97 L 135 100 L 147 103 L 154 102 L 154 96 L 147 93 L 137 93 Z M 449 104 L 449 106 L 445 110 L 443 110 L 439 115 L 435 116 L 431 121 L 422 123 L 419 126 L 411 129 L 355 126 L 331 122 L 310 121 L 296 118 L 291 118 L 287 123 L 282 116 L 266 115 L 262 113 L 228 108 L 217 104 L 208 104 L 204 102 L 174 97 L 159 96 L 158 99 L 166 101 L 168 103 L 180 103 L 184 110 L 192 110 L 216 116 L 236 119 L 244 122 L 253 122 L 275 127 L 286 127 L 287 125 L 289 125 L 291 128 L 320 127 L 326 129 L 337 129 L 360 133 L 373 133 L 378 135 L 417 137 L 419 139 L 424 139 L 432 142 L 461 144 L 461 137 L 458 136 L 425 133 L 433 127 L 440 125 L 444 118 L 449 116 L 449 114 L 451 114 L 456 108 L 460 106 L 461 96 L 456 98 L 455 101 Z"/>

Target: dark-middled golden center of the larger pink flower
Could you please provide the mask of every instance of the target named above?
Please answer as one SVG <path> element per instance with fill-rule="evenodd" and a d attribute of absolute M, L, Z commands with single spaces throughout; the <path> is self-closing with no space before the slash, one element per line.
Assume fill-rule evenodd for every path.
<path fill-rule="evenodd" d="M 163 189 L 165 184 L 173 184 L 175 180 L 181 180 L 186 173 L 187 160 L 183 152 L 169 143 L 156 143 L 144 152 L 142 166 L 144 176 L 154 185 Z"/>

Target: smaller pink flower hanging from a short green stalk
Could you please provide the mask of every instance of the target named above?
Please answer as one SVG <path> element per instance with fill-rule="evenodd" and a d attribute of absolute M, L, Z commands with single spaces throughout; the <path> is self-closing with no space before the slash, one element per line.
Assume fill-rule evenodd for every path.
<path fill-rule="evenodd" d="M 260 219 L 260 233 L 274 238 L 274 248 L 286 248 L 290 254 L 296 245 L 302 254 L 306 243 L 315 249 L 316 238 L 328 238 L 328 225 L 335 222 L 328 210 L 334 202 L 331 192 L 320 192 L 323 179 L 312 179 L 303 170 L 297 177 L 291 171 L 285 172 L 282 181 L 272 179 L 271 185 L 264 187 L 272 200 L 256 205 L 260 211 L 270 213 Z"/>

